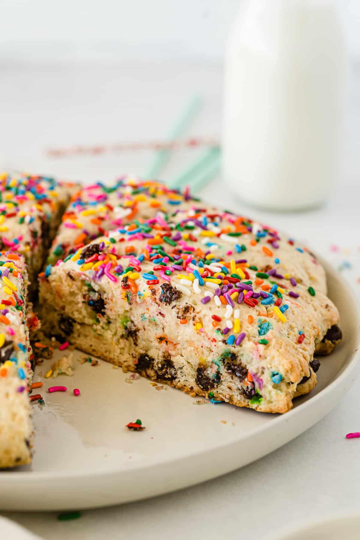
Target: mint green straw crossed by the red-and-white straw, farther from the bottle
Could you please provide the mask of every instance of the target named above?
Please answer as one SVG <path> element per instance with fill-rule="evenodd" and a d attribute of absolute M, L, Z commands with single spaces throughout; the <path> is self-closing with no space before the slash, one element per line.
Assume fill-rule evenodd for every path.
<path fill-rule="evenodd" d="M 167 140 L 172 142 L 178 139 L 187 129 L 189 124 L 195 118 L 196 113 L 198 113 L 200 106 L 202 104 L 202 98 L 198 95 L 194 95 L 189 103 L 186 105 L 185 110 L 182 111 L 181 117 L 177 120 L 173 126 L 172 131 L 168 134 Z M 160 171 L 164 168 L 165 164 L 171 156 L 170 149 L 159 150 L 155 154 L 155 158 L 150 168 L 148 168 L 145 178 L 153 179 L 158 178 Z"/>

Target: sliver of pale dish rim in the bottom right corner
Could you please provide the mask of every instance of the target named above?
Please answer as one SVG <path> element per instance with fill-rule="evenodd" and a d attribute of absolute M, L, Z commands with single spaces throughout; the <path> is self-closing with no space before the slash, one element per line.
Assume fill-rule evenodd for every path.
<path fill-rule="evenodd" d="M 338 516 L 316 523 L 300 524 L 273 540 L 358 540 L 360 530 L 360 516 Z"/>

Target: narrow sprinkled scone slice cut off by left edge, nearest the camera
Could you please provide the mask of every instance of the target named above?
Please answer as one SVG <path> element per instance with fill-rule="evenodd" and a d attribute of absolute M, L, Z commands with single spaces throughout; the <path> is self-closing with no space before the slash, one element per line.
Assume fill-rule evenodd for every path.
<path fill-rule="evenodd" d="M 0 255 L 0 468 L 31 460 L 31 347 L 22 256 Z"/>

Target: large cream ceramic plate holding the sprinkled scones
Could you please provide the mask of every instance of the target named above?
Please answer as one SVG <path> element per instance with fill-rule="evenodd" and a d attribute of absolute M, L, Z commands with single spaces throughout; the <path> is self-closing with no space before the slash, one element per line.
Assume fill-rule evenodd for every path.
<path fill-rule="evenodd" d="M 75 360 L 74 376 L 42 379 L 52 361 L 44 363 L 35 376 L 44 381 L 46 402 L 34 405 L 35 456 L 31 465 L 0 473 L 0 508 L 91 508 L 164 494 L 242 467 L 313 426 L 347 392 L 360 366 L 357 304 L 338 274 L 329 267 L 327 273 L 344 339 L 323 359 L 313 392 L 282 416 L 197 405 L 180 390 L 157 391 L 146 379 L 128 384 L 128 374 L 101 361 L 92 367 Z M 53 384 L 68 391 L 47 393 Z M 138 418 L 144 431 L 125 428 Z"/>

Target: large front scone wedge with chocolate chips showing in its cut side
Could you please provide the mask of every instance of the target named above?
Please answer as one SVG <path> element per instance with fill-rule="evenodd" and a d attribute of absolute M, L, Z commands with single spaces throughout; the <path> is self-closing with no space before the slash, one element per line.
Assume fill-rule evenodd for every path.
<path fill-rule="evenodd" d="M 189 394 L 284 413 L 315 386 L 338 312 L 321 265 L 278 236 L 199 203 L 138 219 L 46 267 L 43 329 Z"/>

